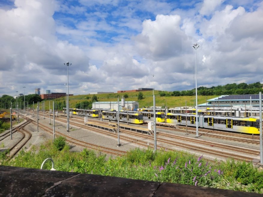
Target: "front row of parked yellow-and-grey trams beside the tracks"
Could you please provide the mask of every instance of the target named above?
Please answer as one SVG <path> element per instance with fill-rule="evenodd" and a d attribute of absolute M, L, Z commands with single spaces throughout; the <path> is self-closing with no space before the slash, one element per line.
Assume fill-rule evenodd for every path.
<path fill-rule="evenodd" d="M 99 117 L 99 111 L 96 109 L 69 109 L 72 114 L 83 115 L 89 117 Z M 66 108 L 63 109 L 66 113 Z M 116 110 L 103 110 L 102 118 L 105 120 L 117 121 Z M 122 111 L 119 112 L 119 121 L 142 124 L 144 121 L 154 121 L 153 112 L 135 112 Z M 168 113 L 165 118 L 164 112 L 156 112 L 156 122 L 166 122 L 169 124 L 196 126 L 196 114 L 188 113 Z M 198 115 L 198 127 L 225 131 L 234 131 L 239 133 L 259 134 L 259 119 L 257 118 L 241 118 L 231 116 L 213 116 L 213 115 Z"/>

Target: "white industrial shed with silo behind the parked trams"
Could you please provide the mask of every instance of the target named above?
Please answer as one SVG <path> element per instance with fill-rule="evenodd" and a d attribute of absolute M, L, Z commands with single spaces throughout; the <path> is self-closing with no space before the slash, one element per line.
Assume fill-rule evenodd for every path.
<path fill-rule="evenodd" d="M 137 101 L 119 101 L 119 111 L 122 109 L 137 111 L 138 107 L 139 103 Z M 115 109 L 118 111 L 118 101 L 94 102 L 92 103 L 92 109 Z"/>

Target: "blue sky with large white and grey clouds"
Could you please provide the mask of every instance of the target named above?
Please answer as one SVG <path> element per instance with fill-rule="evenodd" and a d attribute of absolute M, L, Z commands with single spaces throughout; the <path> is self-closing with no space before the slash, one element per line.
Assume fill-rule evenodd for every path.
<path fill-rule="evenodd" d="M 0 96 L 263 82 L 263 2 L 5 0 Z M 155 74 L 154 82 L 151 77 Z M 7 77 L 8 76 L 8 77 Z"/>

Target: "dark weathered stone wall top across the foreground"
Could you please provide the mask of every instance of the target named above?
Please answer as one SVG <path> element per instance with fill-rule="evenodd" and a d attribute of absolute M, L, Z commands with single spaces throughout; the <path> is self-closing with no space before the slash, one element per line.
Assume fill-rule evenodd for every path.
<path fill-rule="evenodd" d="M 257 193 L 193 185 L 12 166 L 0 166 L 0 180 L 0 196 L 262 197 Z"/>

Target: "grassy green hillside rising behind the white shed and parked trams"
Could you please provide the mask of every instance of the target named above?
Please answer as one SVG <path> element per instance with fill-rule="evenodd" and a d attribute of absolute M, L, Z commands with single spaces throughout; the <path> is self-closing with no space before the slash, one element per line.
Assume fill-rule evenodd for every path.
<path fill-rule="evenodd" d="M 98 101 L 117 101 L 118 97 L 121 100 L 122 96 L 125 94 L 128 95 L 128 98 L 125 98 L 125 101 L 138 101 L 139 108 L 153 106 L 153 91 L 143 91 L 144 99 L 138 100 L 139 92 L 126 92 L 126 93 L 111 93 L 111 94 L 95 94 L 98 98 Z M 179 107 L 179 106 L 195 106 L 195 95 L 193 96 L 179 96 L 179 97 L 161 97 L 159 95 L 159 91 L 155 90 L 155 100 L 156 106 L 167 106 L 171 107 Z M 70 108 L 74 108 L 76 103 L 80 103 L 83 101 L 91 101 L 93 94 L 85 94 L 85 95 L 76 95 L 69 97 L 69 106 Z M 198 104 L 205 103 L 206 100 L 217 97 L 215 96 L 198 96 Z M 88 98 L 88 99 L 87 99 Z M 54 101 L 63 102 L 66 98 L 61 97 L 55 99 Z M 53 100 L 45 100 L 45 109 L 49 108 L 49 101 L 52 103 Z M 52 104 L 51 104 L 52 106 Z M 51 107 L 52 108 L 52 107 Z"/>

